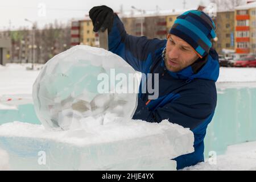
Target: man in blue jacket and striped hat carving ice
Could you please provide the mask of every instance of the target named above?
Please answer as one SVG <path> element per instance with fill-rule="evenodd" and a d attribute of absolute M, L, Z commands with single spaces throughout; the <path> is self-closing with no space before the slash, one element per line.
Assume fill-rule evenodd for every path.
<path fill-rule="evenodd" d="M 94 32 L 108 28 L 110 51 L 139 72 L 159 74 L 159 97 L 150 100 L 149 93 L 140 92 L 133 119 L 158 123 L 168 119 L 191 129 L 195 152 L 175 158 L 177 169 L 203 162 L 204 137 L 217 103 L 219 64 L 211 42 L 216 38 L 213 20 L 202 11 L 187 11 L 177 17 L 168 39 L 159 40 L 128 35 L 107 6 L 93 7 L 89 16 Z"/>

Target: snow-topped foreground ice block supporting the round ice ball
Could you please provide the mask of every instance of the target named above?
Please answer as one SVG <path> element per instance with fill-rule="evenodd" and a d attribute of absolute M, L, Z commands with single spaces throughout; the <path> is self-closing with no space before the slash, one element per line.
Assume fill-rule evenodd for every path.
<path fill-rule="evenodd" d="M 0 148 L 10 169 L 175 170 L 170 159 L 193 152 L 193 133 L 167 120 L 113 121 L 89 131 L 12 122 L 0 125 Z"/>

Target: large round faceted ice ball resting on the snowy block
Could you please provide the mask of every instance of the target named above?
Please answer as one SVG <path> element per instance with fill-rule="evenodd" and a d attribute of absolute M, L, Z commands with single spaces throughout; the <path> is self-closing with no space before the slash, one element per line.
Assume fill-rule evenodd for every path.
<path fill-rule="evenodd" d="M 125 60 L 101 48 L 75 46 L 44 65 L 32 97 L 46 128 L 68 130 L 86 118 L 99 121 L 96 125 L 104 125 L 105 118 L 130 120 L 137 94 L 137 73 Z"/>

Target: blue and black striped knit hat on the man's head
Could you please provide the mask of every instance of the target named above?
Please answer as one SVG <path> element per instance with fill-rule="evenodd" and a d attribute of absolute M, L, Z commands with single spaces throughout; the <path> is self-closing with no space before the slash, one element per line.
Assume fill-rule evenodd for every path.
<path fill-rule="evenodd" d="M 169 34 L 178 36 L 191 45 L 200 58 L 209 53 L 211 39 L 216 38 L 216 26 L 203 11 L 190 10 L 177 16 Z"/>

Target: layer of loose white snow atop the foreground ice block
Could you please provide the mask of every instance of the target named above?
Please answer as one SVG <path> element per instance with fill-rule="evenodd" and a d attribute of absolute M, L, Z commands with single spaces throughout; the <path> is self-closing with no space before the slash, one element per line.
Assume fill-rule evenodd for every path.
<path fill-rule="evenodd" d="M 189 146 L 191 141 L 193 142 L 193 139 L 189 140 L 191 139 L 189 138 L 192 134 L 191 131 L 189 129 L 184 129 L 182 126 L 170 123 L 167 120 L 164 120 L 159 124 L 148 123 L 141 120 L 132 120 L 125 123 L 115 121 L 107 123 L 106 125 L 94 126 L 90 128 L 89 131 L 82 129 L 81 127 L 80 129 L 67 131 L 46 130 L 42 125 L 34 125 L 18 121 L 0 125 L 0 136 L 52 139 L 56 142 L 75 144 L 77 146 L 108 143 L 133 138 L 146 138 L 152 135 L 163 135 L 165 133 L 170 133 L 168 135 L 171 136 L 170 138 L 172 138 L 172 140 L 179 139 L 180 137 L 188 137 L 185 140 L 188 144 L 188 149 L 185 151 L 193 151 L 193 147 Z M 162 137 L 168 136 L 166 135 Z M 179 154 L 179 152 L 170 152 L 169 155 L 176 156 L 177 154 Z"/>

